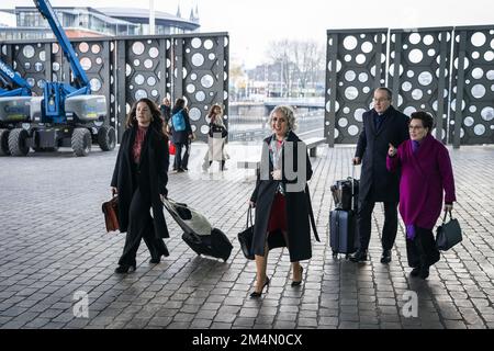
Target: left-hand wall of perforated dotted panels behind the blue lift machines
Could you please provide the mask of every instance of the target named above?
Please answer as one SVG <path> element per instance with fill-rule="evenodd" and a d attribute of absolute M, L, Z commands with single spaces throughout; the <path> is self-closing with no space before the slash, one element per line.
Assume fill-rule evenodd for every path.
<path fill-rule="evenodd" d="M 184 97 L 199 139 L 206 138 L 205 115 L 212 104 L 224 106 L 227 123 L 226 33 L 85 38 L 71 44 L 91 90 L 106 97 L 105 123 L 117 128 L 119 140 L 132 104 L 144 97 L 157 104 L 164 97 Z M 69 64 L 53 39 L 5 42 L 1 52 L 2 59 L 32 82 L 37 95 L 43 94 L 45 80 L 72 82 Z"/>

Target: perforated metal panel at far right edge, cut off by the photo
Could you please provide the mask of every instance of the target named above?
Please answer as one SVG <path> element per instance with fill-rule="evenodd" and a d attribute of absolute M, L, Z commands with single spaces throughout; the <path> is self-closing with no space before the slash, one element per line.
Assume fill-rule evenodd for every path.
<path fill-rule="evenodd" d="M 450 140 L 494 143 L 494 25 L 454 29 Z"/>

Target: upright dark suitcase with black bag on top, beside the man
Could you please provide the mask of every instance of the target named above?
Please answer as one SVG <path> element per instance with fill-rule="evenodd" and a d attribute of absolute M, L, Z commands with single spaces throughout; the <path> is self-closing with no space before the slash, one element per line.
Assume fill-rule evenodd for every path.
<path fill-rule="evenodd" d="M 329 213 L 329 246 L 333 257 L 345 253 L 345 258 L 348 258 L 359 247 L 357 235 L 358 180 L 353 178 L 353 173 L 355 167 L 351 177 L 337 181 L 332 186 L 335 197 L 335 210 Z"/>

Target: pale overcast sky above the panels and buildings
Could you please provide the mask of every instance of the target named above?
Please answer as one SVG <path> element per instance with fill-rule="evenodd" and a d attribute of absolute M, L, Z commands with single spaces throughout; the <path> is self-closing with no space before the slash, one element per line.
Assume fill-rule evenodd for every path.
<path fill-rule="evenodd" d="M 407 4 L 405 4 L 405 2 Z M 52 0 L 52 5 L 148 8 L 142 0 Z M 155 9 L 182 16 L 199 7 L 202 32 L 228 32 L 231 55 L 247 67 L 261 64 L 270 41 L 315 39 L 329 29 L 494 25 L 494 0 L 155 0 Z M 32 5 L 31 0 L 0 0 L 0 8 Z"/>

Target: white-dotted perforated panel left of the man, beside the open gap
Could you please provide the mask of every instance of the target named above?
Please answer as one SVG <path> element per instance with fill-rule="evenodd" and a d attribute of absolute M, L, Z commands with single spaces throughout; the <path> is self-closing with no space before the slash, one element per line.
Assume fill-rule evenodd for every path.
<path fill-rule="evenodd" d="M 327 31 L 324 133 L 330 146 L 357 143 L 372 91 L 385 83 L 386 33 Z"/>

